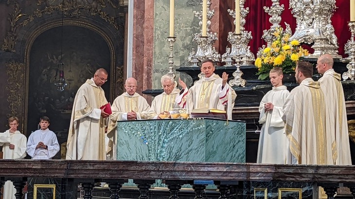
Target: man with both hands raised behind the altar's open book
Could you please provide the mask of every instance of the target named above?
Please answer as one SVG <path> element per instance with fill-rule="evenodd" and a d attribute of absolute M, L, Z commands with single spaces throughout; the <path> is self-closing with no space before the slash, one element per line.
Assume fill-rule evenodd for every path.
<path fill-rule="evenodd" d="M 204 60 L 201 62 L 201 72 L 204 77 L 195 82 L 190 89 L 183 87 L 186 84 L 179 80 L 179 84 L 183 89 L 178 104 L 186 104 L 188 109 L 196 108 L 216 108 L 225 110 L 227 107 L 228 119 L 232 117 L 232 109 L 236 94 L 234 90 L 227 84 L 228 74 L 222 74 L 222 78 L 214 74 L 214 63 L 212 60 Z"/>

